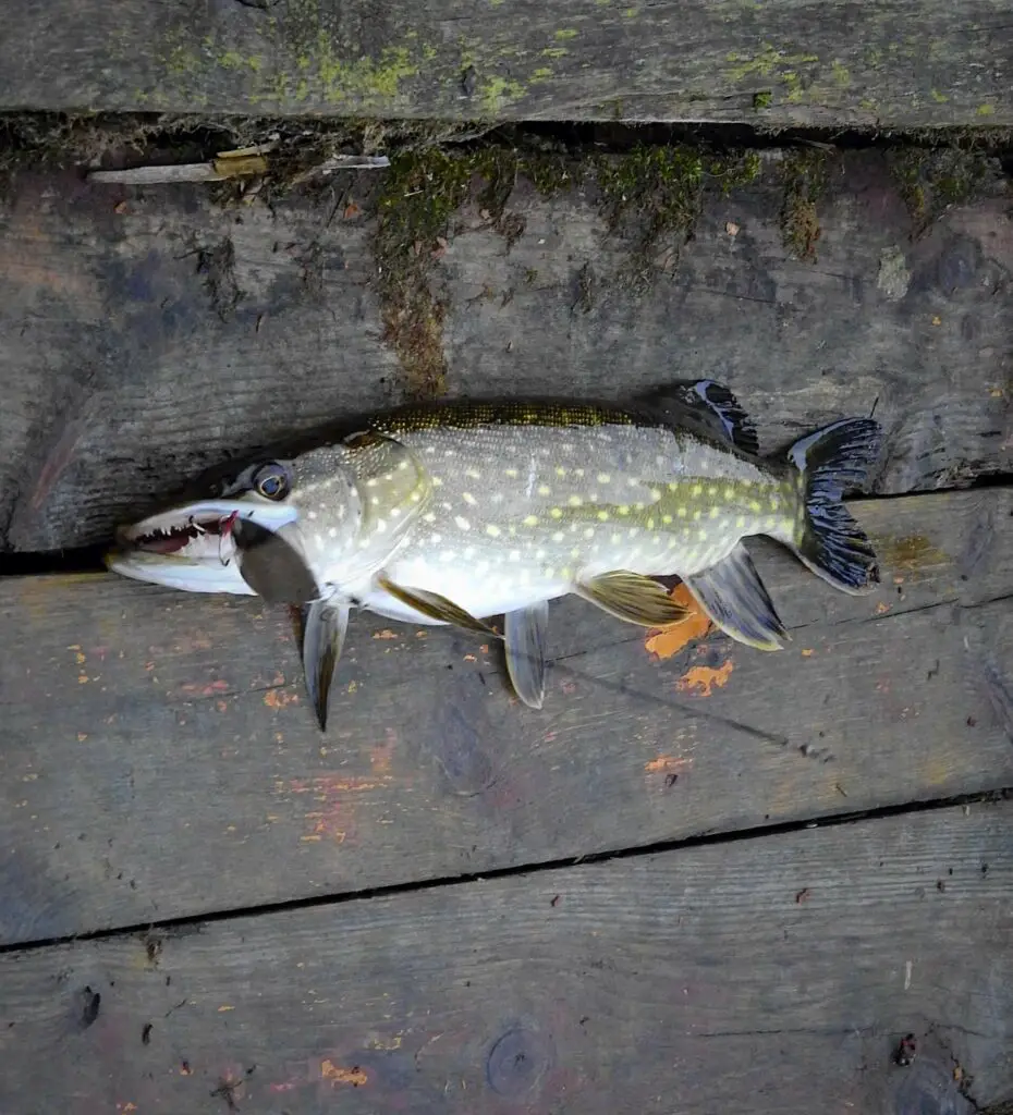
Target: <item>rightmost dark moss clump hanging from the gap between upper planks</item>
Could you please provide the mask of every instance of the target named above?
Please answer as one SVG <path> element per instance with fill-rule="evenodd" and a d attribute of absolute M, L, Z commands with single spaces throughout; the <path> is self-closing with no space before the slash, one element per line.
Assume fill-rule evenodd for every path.
<path fill-rule="evenodd" d="M 1000 176 L 994 161 L 959 147 L 898 147 L 887 157 L 915 235 L 952 206 L 980 200 Z"/>

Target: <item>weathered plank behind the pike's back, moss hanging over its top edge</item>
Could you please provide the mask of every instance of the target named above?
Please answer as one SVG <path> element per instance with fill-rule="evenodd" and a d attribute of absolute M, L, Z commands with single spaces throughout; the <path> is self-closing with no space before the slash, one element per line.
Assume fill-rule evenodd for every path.
<path fill-rule="evenodd" d="M 442 153 L 270 210 L 19 177 L 0 221 L 0 537 L 104 542 L 213 460 L 441 387 L 615 398 L 708 375 L 765 449 L 875 409 L 877 492 L 1011 471 L 1013 236 L 1006 186 L 974 158 L 736 164 L 753 181 L 729 196 L 712 182 L 694 226 L 685 153 L 597 172 L 588 157 L 570 166 L 581 187 L 554 196 L 522 174 L 511 192 L 502 152 L 473 168 L 491 157 L 506 159 L 499 216 L 477 175 L 464 201 Z M 556 164 L 533 158 L 544 190 Z M 799 240 L 814 260 L 794 258 Z"/>

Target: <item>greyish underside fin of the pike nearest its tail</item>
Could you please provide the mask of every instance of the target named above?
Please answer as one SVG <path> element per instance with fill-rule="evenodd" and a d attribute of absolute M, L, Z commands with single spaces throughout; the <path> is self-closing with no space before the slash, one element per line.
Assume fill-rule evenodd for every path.
<path fill-rule="evenodd" d="M 788 632 L 741 542 L 724 561 L 685 578 L 685 583 L 725 634 L 758 650 L 781 649 Z"/>

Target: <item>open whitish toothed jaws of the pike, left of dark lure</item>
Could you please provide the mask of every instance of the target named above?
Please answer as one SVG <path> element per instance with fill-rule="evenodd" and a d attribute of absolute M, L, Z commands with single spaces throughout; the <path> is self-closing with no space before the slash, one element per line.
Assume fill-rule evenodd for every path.
<path fill-rule="evenodd" d="M 106 569 L 135 581 L 183 592 L 255 595 L 243 580 L 234 547 L 225 543 L 237 520 L 266 530 L 298 518 L 287 504 L 243 500 L 199 500 L 149 515 L 116 532 Z"/>

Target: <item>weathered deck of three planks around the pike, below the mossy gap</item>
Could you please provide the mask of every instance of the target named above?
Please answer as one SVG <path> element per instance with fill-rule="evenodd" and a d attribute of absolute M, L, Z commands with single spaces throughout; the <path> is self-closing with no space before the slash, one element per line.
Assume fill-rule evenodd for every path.
<path fill-rule="evenodd" d="M 8 191 L 0 1112 L 1009 1111 L 1004 178 L 803 146 L 653 225 L 695 194 L 639 156 L 467 157 Z M 780 655 L 566 601 L 533 714 L 480 638 L 359 615 L 322 737 L 286 613 L 17 556 L 406 395 L 696 375 L 768 450 L 887 432 L 876 593 L 754 547 Z"/>

